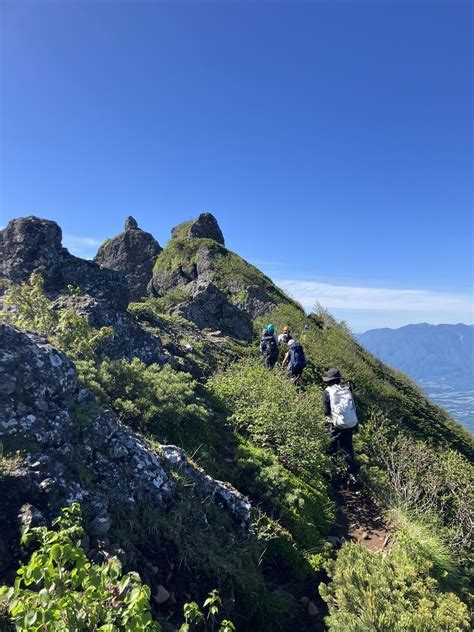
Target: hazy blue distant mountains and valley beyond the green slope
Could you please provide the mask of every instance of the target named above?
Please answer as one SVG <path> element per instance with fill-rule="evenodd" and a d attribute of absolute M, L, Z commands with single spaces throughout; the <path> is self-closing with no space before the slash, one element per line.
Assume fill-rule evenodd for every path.
<path fill-rule="evenodd" d="M 355 336 L 380 360 L 414 378 L 474 430 L 474 325 L 406 325 Z"/>

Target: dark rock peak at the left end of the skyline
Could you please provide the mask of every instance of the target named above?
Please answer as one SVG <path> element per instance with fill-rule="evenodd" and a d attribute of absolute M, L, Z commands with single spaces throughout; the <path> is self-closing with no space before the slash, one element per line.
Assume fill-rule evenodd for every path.
<path fill-rule="evenodd" d="M 15 282 L 28 280 L 40 270 L 45 290 L 52 296 L 66 291 L 68 285 L 115 309 L 126 309 L 128 289 L 122 275 L 71 255 L 61 245 L 62 231 L 56 224 L 39 217 L 22 217 L 0 231 L 0 278 Z"/>

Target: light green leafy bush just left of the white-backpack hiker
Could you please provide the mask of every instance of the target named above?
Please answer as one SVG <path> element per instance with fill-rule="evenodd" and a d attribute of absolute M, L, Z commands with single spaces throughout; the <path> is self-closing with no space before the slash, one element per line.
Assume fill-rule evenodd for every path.
<path fill-rule="evenodd" d="M 267 371 L 256 361 L 236 362 L 208 384 L 237 430 L 274 451 L 292 472 L 311 482 L 329 471 L 318 389 L 298 394 L 284 371 Z"/>

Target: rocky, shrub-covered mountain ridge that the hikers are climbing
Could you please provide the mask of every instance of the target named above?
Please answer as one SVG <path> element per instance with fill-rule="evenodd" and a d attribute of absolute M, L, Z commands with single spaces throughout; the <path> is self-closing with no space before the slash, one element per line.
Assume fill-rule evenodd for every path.
<path fill-rule="evenodd" d="M 131 219 L 125 234 L 139 230 Z M 227 250 L 216 227 L 209 214 L 180 224 L 163 250 L 145 252 L 138 276 L 136 243 L 120 235 L 110 270 L 73 258 L 47 220 L 13 220 L 0 232 L 0 579 L 13 582 L 21 526 L 50 525 L 74 490 L 88 559 L 119 556 L 138 571 L 165 630 L 213 588 L 242 631 L 352 631 L 354 595 L 364 616 L 383 610 L 390 630 L 410 613 L 443 629 L 447 610 L 467 630 L 459 577 L 472 437 L 344 324 L 323 310 L 305 314 Z M 137 285 L 150 294 L 134 296 Z M 278 331 L 289 325 L 305 348 L 299 390 L 259 358 L 269 320 Z M 343 543 L 337 530 L 343 465 L 327 454 L 321 409 L 333 366 L 355 384 L 360 484 L 386 512 L 374 518 L 393 525 L 390 564 L 377 573 L 366 570 L 382 559 L 365 557 L 371 534 L 355 529 Z M 166 502 L 154 502 L 163 481 Z M 390 604 L 387 585 L 397 595 Z M 429 612 L 426 599 L 436 604 Z"/>

